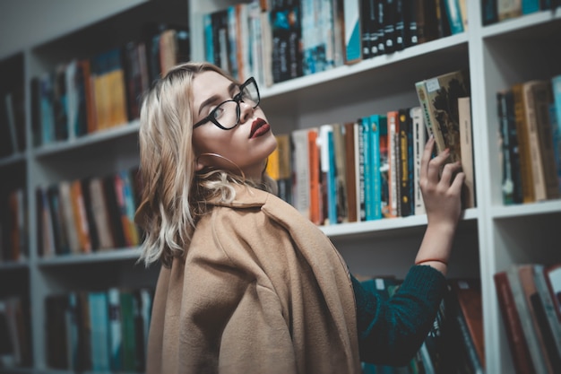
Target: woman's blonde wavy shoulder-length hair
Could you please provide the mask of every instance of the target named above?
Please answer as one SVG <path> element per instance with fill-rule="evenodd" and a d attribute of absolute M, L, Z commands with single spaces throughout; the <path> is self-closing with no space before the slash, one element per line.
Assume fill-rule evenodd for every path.
<path fill-rule="evenodd" d="M 142 98 L 140 114 L 141 203 L 134 221 L 144 232 L 139 261 L 146 266 L 157 261 L 170 266 L 174 257 L 184 257 L 196 222 L 212 205 L 209 199 L 231 202 L 233 184 L 276 191 L 276 184 L 263 170 L 263 183 L 228 170 L 195 170 L 193 141 L 193 79 L 212 71 L 237 82 L 219 67 L 208 63 L 185 63 L 168 71 Z"/>

